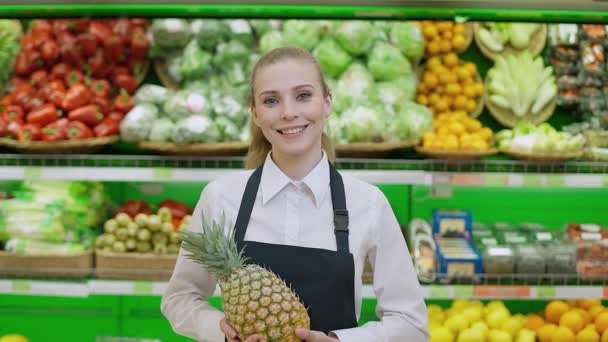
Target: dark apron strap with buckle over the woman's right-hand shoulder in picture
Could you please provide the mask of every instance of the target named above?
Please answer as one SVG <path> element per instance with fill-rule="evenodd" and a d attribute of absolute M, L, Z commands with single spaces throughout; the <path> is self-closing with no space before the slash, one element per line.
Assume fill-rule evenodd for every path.
<path fill-rule="evenodd" d="M 346 210 L 346 196 L 342 176 L 336 168 L 329 163 L 329 188 L 331 190 L 331 203 L 334 207 L 334 233 L 338 252 L 349 253 L 348 246 L 348 210 Z"/>

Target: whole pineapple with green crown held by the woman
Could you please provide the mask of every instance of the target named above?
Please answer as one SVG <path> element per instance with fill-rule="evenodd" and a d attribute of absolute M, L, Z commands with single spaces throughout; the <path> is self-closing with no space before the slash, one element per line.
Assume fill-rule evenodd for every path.
<path fill-rule="evenodd" d="M 295 329 L 310 328 L 306 308 L 276 274 L 245 264 L 234 232 L 224 234 L 223 221 L 203 219 L 202 233 L 183 231 L 181 240 L 187 257 L 217 277 L 226 321 L 241 340 L 259 334 L 267 341 L 300 341 Z"/>

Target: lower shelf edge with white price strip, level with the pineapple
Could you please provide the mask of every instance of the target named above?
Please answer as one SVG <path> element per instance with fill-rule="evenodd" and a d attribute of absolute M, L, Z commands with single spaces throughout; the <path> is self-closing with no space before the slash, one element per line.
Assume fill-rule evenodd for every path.
<path fill-rule="evenodd" d="M 33 296 L 87 297 L 89 295 L 161 296 L 167 282 L 89 280 L 82 282 L 0 280 L 0 294 Z M 424 285 L 426 299 L 577 299 L 605 298 L 608 287 L 604 286 L 524 286 L 524 285 Z M 215 296 L 219 296 L 216 290 Z M 372 285 L 364 285 L 365 299 L 375 299 Z"/>

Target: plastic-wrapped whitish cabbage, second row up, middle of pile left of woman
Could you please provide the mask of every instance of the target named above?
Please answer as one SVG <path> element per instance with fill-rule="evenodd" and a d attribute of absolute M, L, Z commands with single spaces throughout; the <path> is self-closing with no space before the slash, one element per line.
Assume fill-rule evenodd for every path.
<path fill-rule="evenodd" d="M 167 117 L 176 122 L 190 115 L 211 115 L 209 100 L 202 94 L 180 90 L 169 98 L 163 107 Z"/>

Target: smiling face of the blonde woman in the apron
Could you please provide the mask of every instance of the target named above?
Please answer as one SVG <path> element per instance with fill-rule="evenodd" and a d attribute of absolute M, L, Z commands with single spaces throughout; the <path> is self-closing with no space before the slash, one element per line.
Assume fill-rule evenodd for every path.
<path fill-rule="evenodd" d="M 273 154 L 319 153 L 331 98 L 323 96 L 315 66 L 286 59 L 259 69 L 254 82 L 253 121 L 272 145 Z"/>

